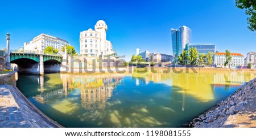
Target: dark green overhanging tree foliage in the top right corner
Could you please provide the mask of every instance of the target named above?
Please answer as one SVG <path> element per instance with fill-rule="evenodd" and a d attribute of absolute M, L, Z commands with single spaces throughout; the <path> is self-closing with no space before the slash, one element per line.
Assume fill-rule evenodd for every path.
<path fill-rule="evenodd" d="M 236 6 L 241 9 L 245 9 L 248 28 L 251 31 L 256 31 L 256 1 L 255 0 L 236 0 Z"/>

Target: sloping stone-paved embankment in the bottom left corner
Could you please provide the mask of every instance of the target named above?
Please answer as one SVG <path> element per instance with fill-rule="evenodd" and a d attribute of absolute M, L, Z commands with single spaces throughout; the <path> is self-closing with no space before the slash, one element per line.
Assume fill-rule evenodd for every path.
<path fill-rule="evenodd" d="M 40 112 L 16 87 L 0 85 L 0 127 L 61 127 Z"/>

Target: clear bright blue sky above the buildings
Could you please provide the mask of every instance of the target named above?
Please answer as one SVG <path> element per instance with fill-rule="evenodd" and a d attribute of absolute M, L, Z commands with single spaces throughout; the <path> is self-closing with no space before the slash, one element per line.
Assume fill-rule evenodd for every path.
<path fill-rule="evenodd" d="M 79 51 L 79 33 L 108 24 L 107 40 L 126 60 L 135 49 L 172 55 L 170 28 L 186 25 L 192 43 L 216 44 L 218 51 L 246 55 L 256 51 L 256 32 L 247 29 L 247 16 L 234 0 L 84 0 L 0 1 L 0 48 L 11 34 L 11 49 L 40 33 L 63 38 Z"/>

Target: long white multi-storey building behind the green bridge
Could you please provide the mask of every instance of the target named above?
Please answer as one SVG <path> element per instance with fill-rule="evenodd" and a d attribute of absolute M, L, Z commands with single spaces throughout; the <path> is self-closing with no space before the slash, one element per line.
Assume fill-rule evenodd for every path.
<path fill-rule="evenodd" d="M 47 46 L 52 46 L 53 49 L 58 49 L 59 54 L 63 50 L 63 46 L 69 45 L 68 41 L 48 34 L 40 34 L 33 38 L 30 42 L 24 42 L 24 50 L 27 51 L 44 51 Z"/>

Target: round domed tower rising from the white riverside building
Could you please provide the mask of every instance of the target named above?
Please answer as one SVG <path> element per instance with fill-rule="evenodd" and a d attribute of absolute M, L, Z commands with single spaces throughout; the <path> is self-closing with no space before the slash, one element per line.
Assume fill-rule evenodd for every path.
<path fill-rule="evenodd" d="M 105 51 L 105 48 L 106 48 L 106 46 L 105 46 L 105 43 L 106 43 L 106 31 L 108 30 L 108 25 L 106 25 L 105 21 L 98 20 L 96 25 L 94 26 L 94 29 L 95 29 L 95 31 L 100 32 L 100 34 L 101 34 L 101 36 L 100 36 L 100 38 L 101 38 L 101 42 L 100 42 L 101 48 L 100 48 L 100 51 L 101 51 L 101 55 L 102 54 L 105 55 L 106 54 L 106 51 Z"/>

